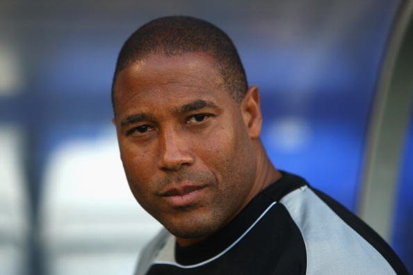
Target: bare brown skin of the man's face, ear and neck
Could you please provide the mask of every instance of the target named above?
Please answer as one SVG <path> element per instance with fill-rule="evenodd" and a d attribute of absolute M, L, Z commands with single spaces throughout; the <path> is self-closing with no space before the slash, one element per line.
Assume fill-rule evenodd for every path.
<path fill-rule="evenodd" d="M 179 245 L 218 231 L 281 177 L 259 141 L 257 87 L 236 102 L 211 56 L 147 56 L 122 70 L 114 89 L 131 192 Z"/>

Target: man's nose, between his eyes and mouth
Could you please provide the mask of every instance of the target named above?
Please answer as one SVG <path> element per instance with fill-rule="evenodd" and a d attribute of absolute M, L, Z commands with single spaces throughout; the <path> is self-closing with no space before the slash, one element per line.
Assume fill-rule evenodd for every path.
<path fill-rule="evenodd" d="M 159 169 L 163 171 L 178 171 L 183 166 L 192 165 L 195 160 L 188 140 L 172 129 L 161 133 L 159 149 Z"/>

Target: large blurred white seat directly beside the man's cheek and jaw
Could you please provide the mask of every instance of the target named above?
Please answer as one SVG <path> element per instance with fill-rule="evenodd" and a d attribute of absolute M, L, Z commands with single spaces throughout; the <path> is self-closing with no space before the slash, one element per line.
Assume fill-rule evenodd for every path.
<path fill-rule="evenodd" d="M 159 230 L 129 191 L 112 138 L 78 140 L 51 154 L 40 208 L 47 274 L 132 274 Z"/>

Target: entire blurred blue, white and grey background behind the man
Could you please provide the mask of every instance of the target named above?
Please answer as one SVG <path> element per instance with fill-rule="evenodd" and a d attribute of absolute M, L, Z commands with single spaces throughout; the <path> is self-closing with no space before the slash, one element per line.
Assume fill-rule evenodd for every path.
<path fill-rule="evenodd" d="M 412 1 L 2 0 L 0 274 L 133 273 L 160 227 L 129 194 L 111 80 L 124 40 L 163 15 L 229 34 L 275 166 L 357 213 L 413 272 Z"/>

